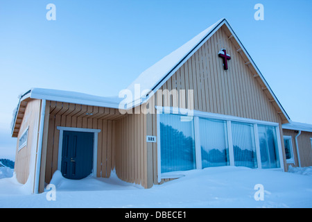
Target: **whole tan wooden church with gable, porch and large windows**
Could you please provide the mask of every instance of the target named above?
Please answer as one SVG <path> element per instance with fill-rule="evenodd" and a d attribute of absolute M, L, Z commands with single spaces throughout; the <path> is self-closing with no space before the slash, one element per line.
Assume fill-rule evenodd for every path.
<path fill-rule="evenodd" d="M 230 60 L 220 58 L 223 49 Z M 121 180 L 145 188 L 205 167 L 286 171 L 282 125 L 291 120 L 227 21 L 172 55 L 177 62 L 146 86 L 148 96 L 125 114 L 120 100 L 98 102 L 40 89 L 24 94 L 12 129 L 18 138 L 17 180 L 31 183 L 36 193 L 57 170 L 64 175 L 87 169 L 85 175 L 103 178 L 114 170 Z M 170 55 L 158 65 L 168 64 L 166 59 Z M 148 73 L 134 83 L 143 85 L 144 78 Z M 89 153 L 73 148 L 83 144 L 79 133 L 84 138 L 89 133 Z M 307 152 L 312 159 L 312 151 Z M 90 157 L 86 161 L 78 155 Z"/>

